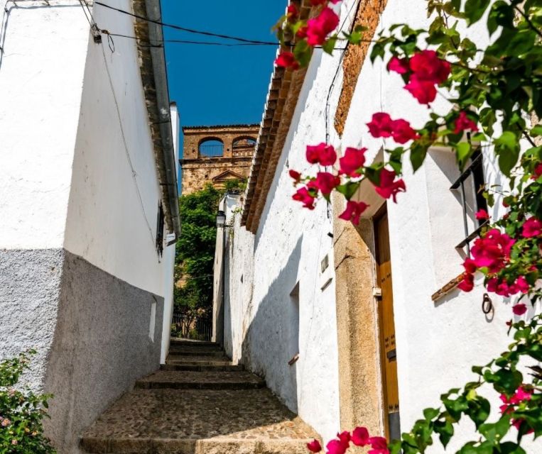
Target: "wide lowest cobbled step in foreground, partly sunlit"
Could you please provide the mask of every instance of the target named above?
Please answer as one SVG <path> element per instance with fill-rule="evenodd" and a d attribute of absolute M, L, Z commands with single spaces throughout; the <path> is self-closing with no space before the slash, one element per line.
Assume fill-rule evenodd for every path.
<path fill-rule="evenodd" d="M 318 438 L 269 389 L 134 389 L 85 431 L 93 454 L 306 454 Z"/>

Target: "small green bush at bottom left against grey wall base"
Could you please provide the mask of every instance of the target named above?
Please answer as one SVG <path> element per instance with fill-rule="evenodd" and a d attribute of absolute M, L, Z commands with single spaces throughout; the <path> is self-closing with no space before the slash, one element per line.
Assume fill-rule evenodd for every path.
<path fill-rule="evenodd" d="M 21 388 L 18 381 L 28 369 L 34 350 L 0 362 L 0 454 L 53 454 L 56 451 L 43 436 L 43 419 L 48 417 L 48 399 Z"/>

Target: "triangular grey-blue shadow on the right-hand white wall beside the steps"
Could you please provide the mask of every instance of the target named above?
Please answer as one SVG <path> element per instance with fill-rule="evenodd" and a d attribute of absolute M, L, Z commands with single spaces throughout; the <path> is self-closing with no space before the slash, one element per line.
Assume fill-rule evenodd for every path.
<path fill-rule="evenodd" d="M 298 268 L 302 244 L 300 236 L 286 265 L 259 302 L 242 341 L 242 363 L 265 377 L 267 385 L 294 412 L 298 411 L 297 365 L 288 365 L 288 361 L 299 353 Z M 254 269 L 256 279 L 266 274 L 267 270 Z"/>

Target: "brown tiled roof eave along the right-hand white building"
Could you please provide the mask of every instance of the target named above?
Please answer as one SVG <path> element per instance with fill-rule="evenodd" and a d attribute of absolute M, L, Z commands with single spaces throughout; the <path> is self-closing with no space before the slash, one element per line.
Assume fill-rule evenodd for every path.
<path fill-rule="evenodd" d="M 306 19 L 310 16 L 312 11 L 310 0 L 290 3 L 298 6 L 301 18 Z M 277 54 L 278 52 L 280 49 Z M 246 226 L 252 233 L 258 230 L 261 212 L 264 211 L 267 194 L 286 142 L 286 135 L 290 130 L 306 72 L 306 68 L 291 71 L 275 66 L 271 75 L 241 217 L 241 225 Z"/>

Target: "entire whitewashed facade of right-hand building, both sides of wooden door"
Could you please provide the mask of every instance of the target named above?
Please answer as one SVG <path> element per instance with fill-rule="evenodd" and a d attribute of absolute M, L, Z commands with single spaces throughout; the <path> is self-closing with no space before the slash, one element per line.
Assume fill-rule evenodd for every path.
<path fill-rule="evenodd" d="M 356 11 L 355 1 L 344 1 L 340 7 L 346 26 L 347 13 Z M 389 0 L 377 31 L 392 23 L 427 28 L 426 1 Z M 476 27 L 468 34 L 477 42 L 485 36 Z M 294 189 L 288 169 L 306 173 L 311 166 L 305 160 L 305 146 L 325 140 L 324 110 L 337 65 L 340 52 L 330 56 L 315 50 L 256 236 L 235 223 L 225 321 L 231 326 L 227 352 L 264 375 L 269 387 L 325 441 L 340 429 L 335 281 L 320 289 L 324 280 L 320 261 L 327 254 L 333 263 L 332 240 L 327 236 L 332 229 L 325 201 L 308 211 L 291 200 Z M 378 158 L 382 140 L 372 138 L 365 126 L 374 112 L 407 118 L 414 127 L 423 126 L 428 118 L 428 109 L 403 89 L 401 78 L 389 74 L 381 61 L 372 65 L 367 57 L 340 138 L 333 115 L 341 85 L 342 71 L 331 89 L 328 123 L 330 143 L 339 150 L 364 146 L 371 150 L 369 161 Z M 443 108 L 443 101 L 436 103 L 437 111 Z M 489 151 L 484 148 L 484 175 L 493 184 L 501 177 Z M 411 175 L 409 164 L 404 172 L 406 194 L 399 194 L 398 204 L 388 203 L 401 431 L 407 431 L 424 408 L 437 405 L 440 394 L 472 380 L 471 365 L 485 364 L 504 350 L 509 342 L 505 321 L 511 318 L 514 303 L 492 295 L 495 311 L 488 318 L 481 309 L 481 282 L 469 294 L 454 290 L 433 303 L 431 295 L 462 272 L 462 257 L 455 250 L 465 237 L 462 206 L 457 194 L 450 192 L 459 171 L 449 151 L 430 150 L 416 175 Z M 357 197 L 372 204 L 371 216 L 384 201 L 372 187 L 369 192 L 360 190 Z M 499 214 L 499 206 L 497 200 L 492 216 Z M 291 292 L 298 283 L 300 358 L 289 367 L 295 318 Z M 498 407 L 497 394 L 489 391 L 487 397 Z M 454 437 L 447 452 L 455 452 L 472 436 L 473 425 L 462 423 L 461 428 L 465 430 Z M 528 452 L 538 452 L 540 443 Z M 430 452 L 444 451 L 437 443 Z"/>

